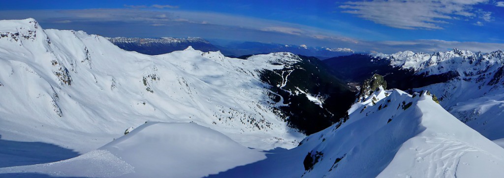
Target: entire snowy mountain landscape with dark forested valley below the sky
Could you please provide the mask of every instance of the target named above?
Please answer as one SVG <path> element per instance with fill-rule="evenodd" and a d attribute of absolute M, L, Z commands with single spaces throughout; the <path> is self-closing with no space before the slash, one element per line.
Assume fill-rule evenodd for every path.
<path fill-rule="evenodd" d="M 502 51 L 214 47 L 0 21 L 0 176 L 504 175 Z"/>

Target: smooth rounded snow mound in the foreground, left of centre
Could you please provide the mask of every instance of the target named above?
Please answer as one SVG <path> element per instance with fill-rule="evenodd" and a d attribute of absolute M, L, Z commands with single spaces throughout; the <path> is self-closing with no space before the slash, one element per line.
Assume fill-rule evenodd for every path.
<path fill-rule="evenodd" d="M 85 177 L 203 177 L 265 159 L 265 154 L 194 123 L 148 122 L 81 156 L 53 163 L 0 168 L 0 173 L 36 172 L 51 176 Z"/>

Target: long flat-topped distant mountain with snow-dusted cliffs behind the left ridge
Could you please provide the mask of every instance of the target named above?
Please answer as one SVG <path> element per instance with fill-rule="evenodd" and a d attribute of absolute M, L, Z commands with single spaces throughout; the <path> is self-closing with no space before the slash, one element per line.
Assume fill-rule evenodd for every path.
<path fill-rule="evenodd" d="M 219 49 L 203 38 L 107 38 L 119 48 L 127 51 L 136 51 L 142 54 L 159 55 L 173 51 L 184 50 L 192 46 L 203 52 L 218 51 Z"/>

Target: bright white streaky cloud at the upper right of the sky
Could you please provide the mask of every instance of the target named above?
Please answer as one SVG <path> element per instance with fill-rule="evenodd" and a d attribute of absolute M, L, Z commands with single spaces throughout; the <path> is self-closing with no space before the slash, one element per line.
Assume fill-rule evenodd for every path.
<path fill-rule="evenodd" d="M 491 20 L 491 13 L 482 12 L 475 5 L 489 0 L 372 0 L 347 2 L 340 8 L 344 13 L 377 24 L 400 29 L 443 29 L 449 20 L 474 18 L 481 14 L 485 21 Z M 482 13 L 477 13 L 482 12 Z"/>

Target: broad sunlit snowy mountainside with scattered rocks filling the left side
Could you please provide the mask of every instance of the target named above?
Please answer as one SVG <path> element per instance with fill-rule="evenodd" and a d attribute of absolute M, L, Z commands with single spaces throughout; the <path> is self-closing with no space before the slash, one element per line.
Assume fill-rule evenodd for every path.
<path fill-rule="evenodd" d="M 249 60 L 190 48 L 149 56 L 82 31 L 0 21 L 0 135 L 93 150 L 145 121 L 196 122 L 254 148 L 292 148 L 304 136 L 273 107 L 262 70 L 291 53 Z"/>

